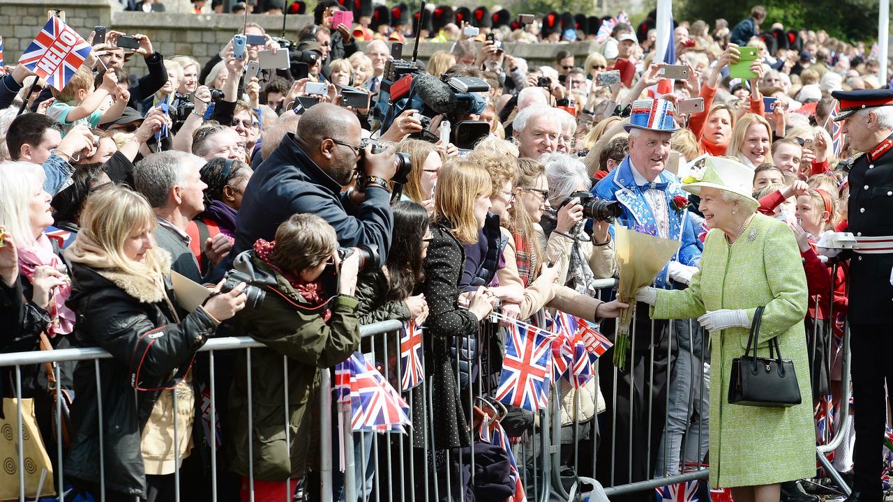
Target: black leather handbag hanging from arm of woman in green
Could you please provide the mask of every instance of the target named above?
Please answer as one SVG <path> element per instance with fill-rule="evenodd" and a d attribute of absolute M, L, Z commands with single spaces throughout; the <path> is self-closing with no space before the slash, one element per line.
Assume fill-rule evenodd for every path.
<path fill-rule="evenodd" d="M 754 314 L 744 356 L 731 360 L 729 404 L 768 407 L 799 405 L 802 399 L 794 363 L 781 359 L 778 338 L 769 340 L 769 357 L 756 356 L 763 308 L 757 308 Z M 751 346 L 754 347 L 753 355 L 750 354 Z"/>

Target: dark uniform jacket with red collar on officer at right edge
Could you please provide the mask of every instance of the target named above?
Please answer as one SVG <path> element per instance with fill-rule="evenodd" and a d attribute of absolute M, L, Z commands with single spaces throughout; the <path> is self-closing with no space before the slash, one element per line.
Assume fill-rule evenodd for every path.
<path fill-rule="evenodd" d="M 893 235 L 893 136 L 853 163 L 849 172 L 849 229 L 856 238 Z M 855 253 L 850 260 L 849 319 L 893 322 L 893 254 Z"/>

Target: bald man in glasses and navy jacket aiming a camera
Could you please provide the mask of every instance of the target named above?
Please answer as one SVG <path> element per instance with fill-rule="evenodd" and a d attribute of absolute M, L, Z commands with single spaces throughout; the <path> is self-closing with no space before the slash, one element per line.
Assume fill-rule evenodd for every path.
<path fill-rule="evenodd" d="M 339 246 L 376 246 L 383 263 L 394 225 L 388 188 L 394 148 L 372 154 L 371 146 L 360 146 L 361 132 L 356 114 L 345 108 L 320 103 L 308 109 L 296 133 L 282 138 L 248 182 L 231 256 L 258 238 L 272 240 L 292 214 L 313 213 L 334 227 Z"/>

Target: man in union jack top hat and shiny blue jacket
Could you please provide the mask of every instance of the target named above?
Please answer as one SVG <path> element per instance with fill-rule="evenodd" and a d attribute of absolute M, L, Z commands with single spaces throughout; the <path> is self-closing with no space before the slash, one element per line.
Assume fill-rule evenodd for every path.
<path fill-rule="evenodd" d="M 689 216 L 687 194 L 682 190 L 679 178 L 672 172 L 666 171 L 670 156 L 670 138 L 678 129 L 674 121 L 672 103 L 664 99 L 650 98 L 633 101 L 630 123 L 625 129 L 630 133 L 628 139 L 630 154 L 616 169 L 600 180 L 592 192 L 599 199 L 617 201 L 622 207 L 622 213 L 612 225 L 612 233 L 614 225 L 622 225 L 681 242 L 680 250 L 658 274 L 655 286 L 683 287 L 697 271 L 697 264 L 701 259 L 701 247 Z M 689 331 L 688 322 L 689 320 L 681 321 L 686 323 L 684 328 L 686 339 L 689 339 L 689 333 L 692 332 Z M 603 332 L 612 333 L 613 329 L 606 324 L 607 322 Z M 692 330 L 698 330 L 697 322 L 692 324 Z M 677 332 L 680 332 L 680 324 L 676 326 Z M 612 473 L 605 469 L 610 469 L 613 465 L 613 480 L 618 483 L 649 479 L 652 474 L 648 472 L 649 465 L 653 471 L 658 470 L 663 474 L 663 467 L 658 465 L 659 462 L 661 464 L 666 462 L 661 455 L 664 448 L 660 446 L 663 417 L 666 411 L 668 385 L 672 384 L 670 381 L 672 364 L 679 347 L 676 342 L 670 343 L 669 322 L 655 321 L 652 328 L 646 304 L 639 304 L 636 309 L 634 329 L 634 340 L 630 355 L 627 356 L 626 368 L 617 373 L 618 399 L 615 409 L 614 438 L 618 445 L 629 445 L 631 436 L 633 440 L 631 463 L 628 456 L 630 454 L 627 453 L 629 448 L 616 448 L 613 461 L 608 457 L 602 457 L 603 453 L 611 456 L 612 448 L 599 448 L 600 457 L 597 460 L 600 469 L 597 473 L 599 479 L 609 479 L 608 476 Z M 648 356 L 652 347 L 655 356 L 654 373 L 651 373 L 652 360 Z M 613 371 L 611 364 L 599 365 L 602 389 L 609 393 L 607 395 L 610 395 L 611 390 L 605 390 L 605 385 L 613 384 Z M 653 378 L 651 374 L 654 375 Z M 689 389 L 689 386 L 684 387 Z M 678 392 L 671 394 L 672 409 L 673 399 L 680 396 Z M 686 406 L 683 409 L 688 409 L 689 399 L 683 398 Z M 613 403 L 609 406 L 613 406 Z M 613 416 L 611 413 L 605 415 Z M 603 431 L 613 431 L 613 428 L 609 424 Z M 602 440 L 605 441 L 604 444 L 610 444 L 611 441 L 605 438 Z M 661 455 L 661 458 L 658 458 L 658 455 Z M 630 464 L 631 472 L 629 472 Z M 630 500 L 639 499 L 641 493 L 634 494 L 630 498 Z"/>

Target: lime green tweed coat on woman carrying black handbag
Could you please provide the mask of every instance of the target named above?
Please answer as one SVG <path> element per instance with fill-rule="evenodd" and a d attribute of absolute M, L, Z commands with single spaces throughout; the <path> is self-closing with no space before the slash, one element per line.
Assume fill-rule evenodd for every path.
<path fill-rule="evenodd" d="M 744 354 L 748 328 L 710 333 L 710 484 L 739 487 L 774 484 L 815 475 L 813 398 L 809 385 L 804 316 L 806 277 L 788 225 L 757 213 L 729 246 L 721 230 L 704 244 L 701 271 L 689 289 L 658 289 L 655 319 L 697 318 L 721 308 L 765 305 L 758 354 L 778 337 L 781 356 L 793 361 L 802 404 L 787 408 L 729 404 L 731 361 Z"/>

